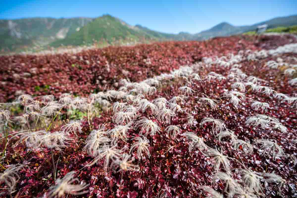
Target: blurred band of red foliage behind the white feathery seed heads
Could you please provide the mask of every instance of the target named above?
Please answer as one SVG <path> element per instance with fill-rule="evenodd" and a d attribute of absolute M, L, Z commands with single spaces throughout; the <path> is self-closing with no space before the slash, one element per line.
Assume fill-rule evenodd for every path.
<path fill-rule="evenodd" d="M 136 82 L 239 50 L 259 49 L 241 37 L 207 41 L 171 41 L 133 47 L 108 47 L 78 54 L 13 55 L 0 57 L 0 102 L 12 101 L 24 91 L 37 96 L 73 93 L 86 96 L 104 88 L 118 88 L 118 81 Z"/>

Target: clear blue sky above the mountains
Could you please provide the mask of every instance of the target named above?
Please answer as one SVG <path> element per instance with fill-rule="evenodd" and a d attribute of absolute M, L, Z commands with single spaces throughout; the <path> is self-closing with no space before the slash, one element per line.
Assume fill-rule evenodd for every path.
<path fill-rule="evenodd" d="M 297 14 L 297 0 L 1 0 L 0 19 L 27 17 L 98 17 L 110 14 L 130 25 L 160 32 L 198 33 L 222 21 L 250 25 L 278 16 Z"/>

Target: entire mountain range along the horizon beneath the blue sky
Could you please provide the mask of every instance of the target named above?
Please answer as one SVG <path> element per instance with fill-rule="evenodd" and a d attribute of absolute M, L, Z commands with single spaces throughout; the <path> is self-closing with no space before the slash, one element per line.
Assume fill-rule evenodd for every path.
<path fill-rule="evenodd" d="M 98 18 L 22 18 L 0 20 L 0 51 L 18 51 L 36 47 L 80 46 L 101 43 L 135 43 L 141 40 L 205 40 L 252 31 L 258 25 L 268 28 L 297 25 L 297 15 L 273 18 L 247 26 L 222 22 L 197 34 L 168 34 L 141 25 L 131 26 L 111 15 Z"/>

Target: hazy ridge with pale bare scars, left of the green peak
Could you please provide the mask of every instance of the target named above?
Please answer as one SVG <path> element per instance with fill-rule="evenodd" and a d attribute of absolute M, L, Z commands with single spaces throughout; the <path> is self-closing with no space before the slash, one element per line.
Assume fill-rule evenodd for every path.
<path fill-rule="evenodd" d="M 0 20 L 0 50 L 44 46 L 76 32 L 91 18 L 23 18 Z"/>

